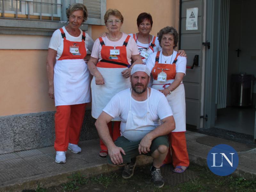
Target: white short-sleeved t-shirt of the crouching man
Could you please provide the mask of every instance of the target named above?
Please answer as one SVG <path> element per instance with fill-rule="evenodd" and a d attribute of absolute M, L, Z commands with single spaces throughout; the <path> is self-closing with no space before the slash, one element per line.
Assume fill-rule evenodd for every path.
<path fill-rule="evenodd" d="M 103 111 L 113 118 L 120 116 L 121 135 L 128 140 L 137 141 L 142 139 L 150 131 L 135 130 L 135 128 L 129 128 L 129 130 L 125 130 L 128 111 L 130 109 L 130 90 L 131 89 L 129 88 L 117 93 L 114 97 L 112 97 Z M 137 101 L 131 98 L 131 102 L 132 113 L 136 114 L 136 116 L 144 117 L 147 113 L 147 100 Z M 162 120 L 173 115 L 172 109 L 164 94 L 152 88 L 148 98 L 148 108 L 149 115 L 154 121 L 156 127 L 161 124 L 160 119 Z M 147 129 L 147 127 L 145 127 L 145 129 Z"/>

